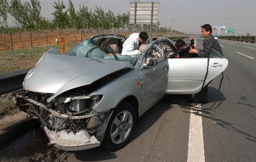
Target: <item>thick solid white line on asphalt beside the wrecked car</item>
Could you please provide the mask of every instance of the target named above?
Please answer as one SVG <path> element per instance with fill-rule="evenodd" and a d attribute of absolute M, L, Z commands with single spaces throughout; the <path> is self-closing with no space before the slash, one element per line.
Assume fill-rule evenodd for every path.
<path fill-rule="evenodd" d="M 201 105 L 197 104 L 201 109 Z M 188 162 L 204 162 L 204 138 L 203 125 L 200 111 L 190 110 L 189 139 L 188 139 Z M 194 114 L 196 113 L 196 114 Z"/>

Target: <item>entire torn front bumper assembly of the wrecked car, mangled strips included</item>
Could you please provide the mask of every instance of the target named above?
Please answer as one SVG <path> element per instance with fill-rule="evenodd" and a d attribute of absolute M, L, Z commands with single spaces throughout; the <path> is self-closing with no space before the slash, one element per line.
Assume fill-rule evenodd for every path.
<path fill-rule="evenodd" d="M 61 150 L 78 151 L 100 146 L 113 109 L 79 115 L 61 113 L 47 103 L 28 96 L 16 97 L 20 110 L 39 118 L 49 143 Z M 67 107 L 65 105 L 64 107 Z"/>

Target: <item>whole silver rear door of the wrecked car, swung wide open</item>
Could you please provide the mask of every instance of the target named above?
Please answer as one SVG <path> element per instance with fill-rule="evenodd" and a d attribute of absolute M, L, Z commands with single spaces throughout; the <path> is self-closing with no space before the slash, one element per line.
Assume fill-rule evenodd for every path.
<path fill-rule="evenodd" d="M 208 58 L 169 58 L 167 94 L 195 94 L 203 86 Z M 228 59 L 210 50 L 205 86 L 228 66 Z"/>

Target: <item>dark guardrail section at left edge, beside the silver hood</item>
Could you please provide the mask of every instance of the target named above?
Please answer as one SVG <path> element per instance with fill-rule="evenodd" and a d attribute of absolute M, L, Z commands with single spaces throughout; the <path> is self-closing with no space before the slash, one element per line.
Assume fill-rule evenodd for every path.
<path fill-rule="evenodd" d="M 16 70 L 0 75 L 0 95 L 22 88 L 23 80 L 30 69 Z"/>

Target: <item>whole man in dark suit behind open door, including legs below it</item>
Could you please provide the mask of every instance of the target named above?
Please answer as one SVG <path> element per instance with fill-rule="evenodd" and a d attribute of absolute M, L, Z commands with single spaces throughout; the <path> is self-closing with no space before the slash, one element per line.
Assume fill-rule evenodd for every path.
<path fill-rule="evenodd" d="M 201 25 L 201 34 L 204 38 L 203 46 L 201 49 L 190 49 L 189 53 L 196 53 L 198 57 L 210 57 L 210 48 L 213 48 L 218 53 L 222 54 L 221 46 L 218 41 L 214 39 L 212 35 L 212 27 L 209 24 Z M 195 94 L 195 99 L 193 101 L 200 101 L 201 103 L 208 103 L 208 85 L 206 85 L 199 93 Z"/>

